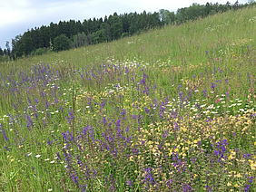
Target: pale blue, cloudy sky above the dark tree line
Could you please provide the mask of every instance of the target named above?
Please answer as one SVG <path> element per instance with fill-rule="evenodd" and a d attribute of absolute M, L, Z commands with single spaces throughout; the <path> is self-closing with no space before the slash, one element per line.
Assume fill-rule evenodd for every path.
<path fill-rule="evenodd" d="M 59 21 L 75 21 L 100 18 L 116 12 L 142 13 L 158 12 L 167 9 L 176 12 L 178 8 L 188 7 L 192 3 L 205 5 L 226 4 L 227 0 L 0 0 L 0 47 L 5 49 L 6 41 L 12 42 L 16 35 L 42 25 Z M 236 0 L 229 0 L 234 4 Z M 240 0 L 240 4 L 248 0 Z"/>

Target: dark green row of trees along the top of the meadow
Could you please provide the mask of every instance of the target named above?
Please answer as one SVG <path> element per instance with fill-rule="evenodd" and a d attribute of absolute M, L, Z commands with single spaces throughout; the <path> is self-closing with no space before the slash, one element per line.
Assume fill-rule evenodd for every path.
<path fill-rule="evenodd" d="M 165 24 L 183 24 L 199 17 L 237 10 L 249 5 L 256 5 L 255 1 L 241 5 L 227 2 L 225 5 L 207 3 L 206 5 L 192 4 L 190 7 L 180 8 L 176 14 L 165 9 L 159 12 L 142 14 L 111 14 L 108 17 L 80 21 L 60 21 L 48 26 L 34 27 L 23 35 L 12 39 L 12 50 L 9 42 L 5 49 L 0 47 L 1 60 L 15 60 L 25 55 L 39 55 L 47 52 L 59 52 L 70 48 L 78 48 L 90 44 L 111 42 L 133 34 L 141 34 Z"/>

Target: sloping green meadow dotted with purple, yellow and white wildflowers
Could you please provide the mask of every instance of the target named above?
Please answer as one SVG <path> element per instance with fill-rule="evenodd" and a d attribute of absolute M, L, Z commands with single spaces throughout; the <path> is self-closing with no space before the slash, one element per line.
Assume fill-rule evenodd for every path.
<path fill-rule="evenodd" d="M 256 191 L 256 7 L 0 63 L 0 191 Z"/>

